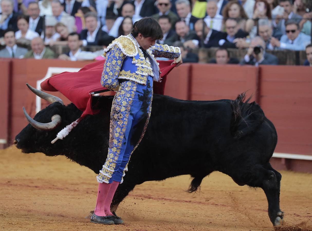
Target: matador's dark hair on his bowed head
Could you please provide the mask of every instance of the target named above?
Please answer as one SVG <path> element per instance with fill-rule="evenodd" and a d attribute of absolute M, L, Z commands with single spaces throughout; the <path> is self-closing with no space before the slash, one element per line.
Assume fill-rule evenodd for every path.
<path fill-rule="evenodd" d="M 144 38 L 163 39 L 163 30 L 153 17 L 145 17 L 134 22 L 131 33 L 134 37 L 137 37 L 141 33 Z"/>

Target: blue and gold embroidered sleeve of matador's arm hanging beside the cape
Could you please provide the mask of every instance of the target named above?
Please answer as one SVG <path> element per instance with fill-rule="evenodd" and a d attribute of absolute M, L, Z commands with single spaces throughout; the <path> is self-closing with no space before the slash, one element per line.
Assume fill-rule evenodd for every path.
<path fill-rule="evenodd" d="M 103 67 L 101 85 L 109 90 L 117 91 L 119 88 L 118 75 L 126 55 L 118 46 L 113 46 L 103 54 L 105 63 Z"/>

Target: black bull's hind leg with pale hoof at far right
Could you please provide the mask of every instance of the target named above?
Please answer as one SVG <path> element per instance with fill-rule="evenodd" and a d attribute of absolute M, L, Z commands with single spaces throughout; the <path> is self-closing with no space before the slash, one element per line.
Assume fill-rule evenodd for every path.
<path fill-rule="evenodd" d="M 284 224 L 284 213 L 280 211 L 280 180 L 282 175 L 273 169 L 270 163 L 267 163 L 264 167 L 271 172 L 269 178 L 263 180 L 261 187 L 268 200 L 268 214 L 274 226 L 282 225 Z"/>

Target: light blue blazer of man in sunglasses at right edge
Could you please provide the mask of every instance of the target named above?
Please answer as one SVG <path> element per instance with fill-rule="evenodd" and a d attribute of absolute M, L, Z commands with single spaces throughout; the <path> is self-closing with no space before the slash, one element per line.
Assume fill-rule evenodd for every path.
<path fill-rule="evenodd" d="M 294 43 L 291 44 L 287 35 L 283 35 L 280 38 L 280 43 L 278 50 L 288 49 L 293 51 L 304 51 L 305 47 L 311 43 L 311 36 L 300 32 L 294 40 Z"/>

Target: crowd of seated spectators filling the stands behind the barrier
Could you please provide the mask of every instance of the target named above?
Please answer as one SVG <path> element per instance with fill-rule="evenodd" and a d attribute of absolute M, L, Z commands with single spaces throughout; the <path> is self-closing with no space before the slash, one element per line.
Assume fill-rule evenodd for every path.
<path fill-rule="evenodd" d="M 156 42 L 179 46 L 184 62 L 198 62 L 192 49 L 218 47 L 211 63 L 278 64 L 270 50 L 306 51 L 312 63 L 309 0 L 0 0 L 0 57 L 96 59 L 101 51 L 81 47 L 106 47 L 143 17 L 158 20 L 164 36 Z M 56 55 L 54 45 L 70 51 Z M 238 60 L 227 48 L 246 55 Z"/>

